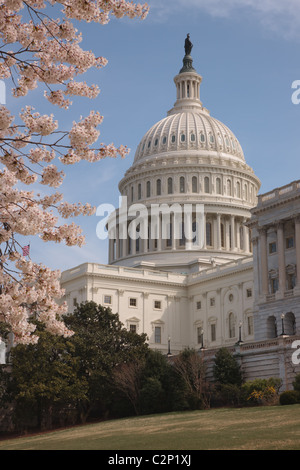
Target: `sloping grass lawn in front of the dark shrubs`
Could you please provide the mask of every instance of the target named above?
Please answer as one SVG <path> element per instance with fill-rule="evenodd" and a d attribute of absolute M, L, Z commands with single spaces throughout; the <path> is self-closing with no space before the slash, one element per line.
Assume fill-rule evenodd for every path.
<path fill-rule="evenodd" d="M 105 421 L 0 441 L 0 450 L 300 450 L 300 405 Z"/>

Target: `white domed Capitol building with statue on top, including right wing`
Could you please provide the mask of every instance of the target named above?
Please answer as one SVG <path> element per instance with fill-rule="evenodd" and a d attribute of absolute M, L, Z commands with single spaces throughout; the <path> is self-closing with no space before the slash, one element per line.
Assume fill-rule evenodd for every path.
<path fill-rule="evenodd" d="M 259 194 L 232 130 L 200 98 L 192 44 L 174 77 L 176 101 L 141 138 L 108 223 L 108 264 L 62 273 L 69 311 L 94 301 L 149 346 L 207 362 L 228 347 L 244 377 L 300 366 L 300 180 Z M 300 343 L 299 343 L 300 344 Z"/>

